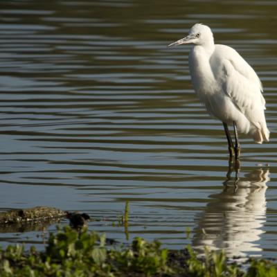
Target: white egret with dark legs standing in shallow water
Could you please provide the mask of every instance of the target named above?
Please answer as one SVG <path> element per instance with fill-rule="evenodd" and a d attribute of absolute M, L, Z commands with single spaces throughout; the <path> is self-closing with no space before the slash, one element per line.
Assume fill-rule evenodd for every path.
<path fill-rule="evenodd" d="M 222 121 L 230 157 L 240 156 L 238 132 L 256 143 L 269 141 L 265 98 L 256 72 L 233 48 L 214 44 L 208 26 L 195 24 L 188 36 L 168 46 L 193 44 L 188 57 L 193 89 L 209 114 Z M 228 125 L 233 125 L 235 145 Z"/>

